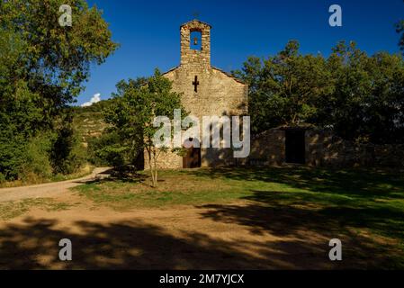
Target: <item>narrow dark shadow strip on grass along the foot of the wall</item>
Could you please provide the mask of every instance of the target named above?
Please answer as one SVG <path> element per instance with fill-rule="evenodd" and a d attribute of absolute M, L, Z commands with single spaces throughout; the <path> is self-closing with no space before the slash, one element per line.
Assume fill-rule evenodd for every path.
<path fill-rule="evenodd" d="M 247 182 L 287 184 L 311 192 L 367 199 L 403 199 L 404 173 L 385 170 L 301 167 L 217 168 L 187 171 L 191 175 Z"/>

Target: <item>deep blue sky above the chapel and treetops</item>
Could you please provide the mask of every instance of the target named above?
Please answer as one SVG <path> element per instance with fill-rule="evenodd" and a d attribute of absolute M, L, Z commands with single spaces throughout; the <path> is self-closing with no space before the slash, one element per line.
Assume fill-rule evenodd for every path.
<path fill-rule="evenodd" d="M 302 53 L 328 56 L 339 40 L 355 40 L 369 54 L 399 52 L 394 23 L 404 18 L 402 0 L 89 0 L 103 10 L 112 39 L 121 44 L 91 69 L 77 104 L 94 94 L 107 99 L 121 79 L 150 76 L 179 64 L 179 26 L 194 18 L 212 25 L 211 64 L 237 69 L 248 56 L 266 57 L 299 40 Z M 339 4 L 343 27 L 328 25 L 328 8 Z"/>

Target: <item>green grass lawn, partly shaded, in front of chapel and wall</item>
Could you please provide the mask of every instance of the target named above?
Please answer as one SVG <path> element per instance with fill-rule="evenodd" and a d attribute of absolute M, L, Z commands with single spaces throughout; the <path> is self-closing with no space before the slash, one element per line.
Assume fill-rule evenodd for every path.
<path fill-rule="evenodd" d="M 366 234 L 366 241 L 374 239 L 373 245 L 380 246 L 379 253 L 391 254 L 389 266 L 404 267 L 402 172 L 308 167 L 197 169 L 162 171 L 158 188 L 149 184 L 145 174 L 76 189 L 95 203 L 118 211 L 193 205 L 215 209 L 206 217 L 226 217 L 257 231 L 290 232 L 303 227 L 330 236 L 354 233 L 358 239 Z M 236 202 L 243 208 L 232 206 Z"/>

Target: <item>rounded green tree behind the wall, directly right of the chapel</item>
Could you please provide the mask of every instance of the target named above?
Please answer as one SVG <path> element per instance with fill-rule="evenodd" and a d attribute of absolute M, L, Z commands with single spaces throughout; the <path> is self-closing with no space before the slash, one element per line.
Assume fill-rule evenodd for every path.
<path fill-rule="evenodd" d="M 295 40 L 274 57 L 248 58 L 242 71 L 233 73 L 249 86 L 253 132 L 310 122 L 319 98 L 333 89 L 326 66 L 319 55 L 301 55 Z"/>

